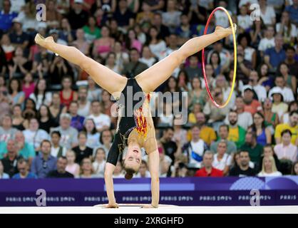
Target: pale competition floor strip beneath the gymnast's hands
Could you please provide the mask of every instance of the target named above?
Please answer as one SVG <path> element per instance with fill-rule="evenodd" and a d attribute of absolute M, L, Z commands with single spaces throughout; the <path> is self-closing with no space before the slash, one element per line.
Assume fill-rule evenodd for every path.
<path fill-rule="evenodd" d="M 0 214 L 298 214 L 298 206 L 260 207 L 178 207 L 160 205 L 141 208 L 140 204 L 120 204 L 117 209 L 94 207 L 0 207 Z"/>

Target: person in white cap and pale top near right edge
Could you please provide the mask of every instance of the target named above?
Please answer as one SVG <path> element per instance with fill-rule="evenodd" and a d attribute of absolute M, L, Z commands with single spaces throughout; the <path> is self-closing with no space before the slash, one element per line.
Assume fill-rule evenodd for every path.
<path fill-rule="evenodd" d="M 282 118 L 284 113 L 287 113 L 288 105 L 284 103 L 284 96 L 282 95 L 282 90 L 279 87 L 274 87 L 269 91 L 269 98 L 273 100 L 272 113 L 277 113 L 279 118 Z"/>

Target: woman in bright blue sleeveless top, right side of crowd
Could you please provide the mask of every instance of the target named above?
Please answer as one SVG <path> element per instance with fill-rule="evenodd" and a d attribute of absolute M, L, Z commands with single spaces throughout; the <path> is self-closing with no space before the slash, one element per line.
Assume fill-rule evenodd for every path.
<path fill-rule="evenodd" d="M 254 114 L 254 123 L 250 127 L 250 130 L 256 133 L 257 143 L 262 146 L 271 144 L 271 130 L 269 128 L 266 128 L 266 125 L 264 123 L 264 115 L 262 113 L 257 112 Z"/>

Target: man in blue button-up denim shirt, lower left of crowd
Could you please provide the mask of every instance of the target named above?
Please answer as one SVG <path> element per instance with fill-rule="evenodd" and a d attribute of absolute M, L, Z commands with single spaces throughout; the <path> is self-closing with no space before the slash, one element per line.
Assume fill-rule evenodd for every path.
<path fill-rule="evenodd" d="M 51 171 L 56 170 L 56 162 L 56 157 L 51 155 L 51 142 L 43 140 L 41 142 L 41 152 L 32 161 L 31 172 L 38 178 L 45 178 Z"/>

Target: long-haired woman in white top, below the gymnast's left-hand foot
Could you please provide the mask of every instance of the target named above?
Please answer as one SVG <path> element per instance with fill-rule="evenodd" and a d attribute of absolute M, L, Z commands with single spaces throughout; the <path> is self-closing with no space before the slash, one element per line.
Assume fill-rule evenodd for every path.
<path fill-rule="evenodd" d="M 29 96 L 36 103 L 36 109 L 39 110 L 41 105 L 50 105 L 52 101 L 52 95 L 47 91 L 46 80 L 41 78 L 36 82 L 36 88 L 34 93 Z"/>

